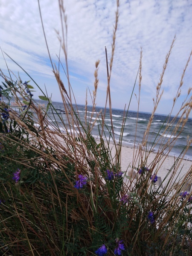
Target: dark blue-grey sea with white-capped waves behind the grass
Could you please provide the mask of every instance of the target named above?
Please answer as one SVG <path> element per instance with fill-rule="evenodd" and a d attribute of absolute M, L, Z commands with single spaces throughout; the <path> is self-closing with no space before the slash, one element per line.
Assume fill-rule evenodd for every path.
<path fill-rule="evenodd" d="M 38 104 L 45 104 L 45 107 L 47 106 L 46 101 L 42 101 L 42 100 L 38 100 Z M 66 128 L 62 123 L 64 122 L 67 127 L 67 131 L 70 132 L 71 130 L 68 124 L 67 115 L 64 112 L 63 103 L 52 102 L 52 105 L 55 108 L 55 110 L 51 111 L 51 109 L 49 109 L 47 111 L 47 119 L 51 123 L 50 128 L 56 125 L 59 127 L 62 133 L 66 133 Z M 90 119 L 91 113 L 92 113 L 91 106 L 87 106 L 87 114 L 85 112 L 84 105 L 73 105 L 73 109 L 75 113 L 77 112 L 79 113 L 78 116 L 81 120 L 81 129 L 83 129 L 82 128 L 83 126 L 84 127 L 87 126 L 85 122 L 85 118 L 86 118 L 87 122 L 91 124 L 91 127 L 94 123 L 93 128 L 91 130 L 93 137 L 95 137 L 96 139 L 99 138 L 99 134 L 101 134 L 101 130 L 102 130 L 102 125 L 101 125 L 102 118 L 100 114 L 99 115 L 100 120 L 98 119 L 98 113 L 99 111 L 102 111 L 102 115 L 104 116 L 105 108 L 96 107 L 93 113 L 92 119 Z M 128 111 L 126 119 L 125 119 L 125 115 L 126 113 L 123 110 L 112 109 L 114 139 L 117 144 L 119 144 L 119 140 L 122 140 L 123 146 L 137 147 L 142 143 L 144 133 L 146 131 L 149 119 L 151 117 L 151 113 L 145 113 L 145 112 L 137 113 L 136 111 Z M 186 148 L 187 141 L 192 139 L 192 119 L 189 118 L 187 120 L 186 125 L 184 126 L 183 131 L 180 134 L 178 133 L 173 134 L 172 131 L 174 130 L 178 122 L 178 118 L 176 118 L 175 122 L 172 124 L 173 118 L 174 116 L 171 116 L 168 119 L 166 115 L 161 115 L 161 114 L 154 115 L 154 118 L 151 123 L 151 128 L 148 134 L 148 140 L 147 140 L 148 150 L 152 149 L 154 152 L 155 151 L 157 152 L 158 148 L 160 148 L 162 143 L 163 145 L 165 145 L 169 140 L 169 142 L 171 143 L 170 148 L 172 148 L 171 151 L 169 152 L 169 155 L 175 156 L 175 157 L 181 156 L 182 152 Z M 124 123 L 123 130 L 122 130 L 122 123 Z M 74 127 L 76 128 L 76 125 L 74 125 Z M 136 131 L 136 127 L 137 127 L 137 131 Z M 74 129 L 74 131 L 76 132 L 78 137 L 78 130 Z M 105 126 L 104 126 L 103 139 L 110 140 L 110 142 L 113 143 L 111 134 L 112 134 L 112 125 L 111 125 L 110 111 L 107 108 L 105 112 Z M 175 139 L 176 137 L 177 139 Z M 166 150 L 168 149 L 169 147 L 165 149 L 164 153 L 166 153 Z M 192 160 L 192 145 L 190 145 L 189 149 L 186 151 L 184 159 Z"/>

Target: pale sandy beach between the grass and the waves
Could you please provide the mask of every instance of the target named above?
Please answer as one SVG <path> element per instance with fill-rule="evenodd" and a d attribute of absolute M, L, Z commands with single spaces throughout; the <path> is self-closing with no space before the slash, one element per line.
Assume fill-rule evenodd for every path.
<path fill-rule="evenodd" d="M 58 138 L 58 141 L 61 143 L 61 145 L 65 144 L 64 139 L 62 137 L 60 137 L 56 134 L 55 134 L 55 136 Z M 50 140 L 50 141 L 52 141 L 52 140 Z M 96 140 L 96 141 L 97 141 L 97 143 L 100 143 L 99 140 Z M 114 157 L 115 145 L 113 143 L 110 143 L 109 147 L 111 149 L 111 154 Z M 143 152 L 143 155 L 145 155 L 145 152 L 144 151 L 142 151 L 142 152 Z M 147 154 L 148 154 L 148 152 L 147 152 Z M 138 156 L 137 148 L 122 145 L 122 147 L 121 147 L 121 171 L 124 172 L 124 175 L 127 175 L 129 177 L 131 175 L 132 175 L 132 177 L 135 177 L 135 175 L 137 175 L 137 171 L 135 171 L 133 173 L 133 169 L 131 168 L 133 163 L 134 163 L 135 167 L 140 167 L 140 165 L 139 165 L 140 160 L 139 160 L 139 157 L 137 157 L 137 156 Z M 146 161 L 146 167 L 148 169 L 150 169 L 151 163 L 153 163 L 153 161 L 156 157 L 157 157 L 157 153 L 155 153 L 155 152 L 151 152 L 150 154 L 148 154 L 148 158 Z M 134 161 L 133 161 L 133 159 L 134 159 Z M 144 158 L 143 158 L 143 160 L 144 160 Z M 185 159 L 179 159 L 177 165 L 175 165 L 176 168 L 172 168 L 172 166 L 174 166 L 174 163 L 176 160 L 177 160 L 176 157 L 169 156 L 169 155 L 168 156 L 163 155 L 161 157 L 161 159 L 159 160 L 158 164 L 155 166 L 155 169 L 154 169 L 154 172 L 158 176 L 159 185 L 161 183 L 160 180 L 163 181 L 166 178 L 163 181 L 163 186 L 165 186 L 166 181 L 169 180 L 173 176 L 174 176 L 174 178 L 172 180 L 172 184 L 177 183 L 177 182 L 179 182 L 179 184 L 180 184 L 181 183 L 180 180 L 183 180 L 183 178 L 185 178 L 185 180 L 188 180 L 189 184 L 192 184 L 192 161 L 185 160 Z M 167 175 L 170 169 L 172 169 L 172 171 L 169 173 L 169 175 Z M 190 175 L 189 175 L 189 172 L 191 173 Z M 186 175 L 187 173 L 188 173 L 188 175 Z M 127 182 L 128 179 L 125 177 L 124 181 Z M 188 190 L 192 191 L 192 186 Z"/>

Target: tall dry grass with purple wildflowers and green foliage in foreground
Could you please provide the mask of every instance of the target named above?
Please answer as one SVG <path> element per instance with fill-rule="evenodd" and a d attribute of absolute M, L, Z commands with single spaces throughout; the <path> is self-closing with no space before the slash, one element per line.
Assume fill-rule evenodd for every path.
<path fill-rule="evenodd" d="M 59 2 L 62 27 L 66 28 L 63 2 Z M 159 176 L 163 162 L 169 157 L 189 118 L 192 109 L 191 89 L 175 118 L 170 118 L 172 112 L 167 116 L 166 125 L 158 131 L 159 136 L 149 147 L 149 131 L 162 97 L 163 76 L 174 38 L 160 74 L 156 98 L 153 99 L 154 109 L 143 141 L 134 147 L 132 162 L 122 166 L 122 134 L 129 104 L 124 111 L 119 140 L 116 141 L 110 93 L 118 10 L 119 1 L 109 64 L 107 61 L 105 108 L 100 112 L 96 110 L 99 87 L 99 61 L 96 61 L 93 108 L 89 119 L 86 114 L 87 101 L 84 120 L 79 117 L 78 105 L 74 108 L 72 104 L 75 92 L 69 81 L 65 29 L 60 35 L 60 41 L 66 57 L 68 86 L 64 85 L 54 65 L 52 69 L 60 88 L 67 123 L 57 113 L 46 93 L 42 92 L 40 99 L 46 102 L 47 108 L 36 104 L 30 81 L 23 81 L 20 77 L 13 81 L 11 77 L 0 74 L 3 79 L 0 86 L 1 99 L 3 97 L 9 103 L 14 98 L 20 110 L 14 111 L 5 100 L 0 101 L 0 255 L 192 254 L 192 192 L 188 189 L 189 183 L 192 183 L 192 166 L 189 169 L 183 166 L 191 138 L 180 156 L 175 157 L 172 167 L 161 182 Z M 139 87 L 138 111 L 142 86 L 142 53 L 141 50 L 136 79 Z M 192 52 L 186 60 L 178 90 L 173 97 L 172 110 L 180 96 L 191 55 Z M 29 80 L 32 80 L 30 76 Z M 132 95 L 135 86 L 136 82 L 133 84 Z M 105 134 L 108 103 L 111 116 L 110 138 Z M 55 120 L 49 121 L 48 109 L 55 119 L 59 117 L 65 133 L 60 129 L 61 124 L 58 125 Z M 96 122 L 92 119 L 95 112 L 95 120 L 101 128 L 97 140 L 92 134 Z M 174 136 L 167 137 L 170 131 Z M 151 160 L 157 142 L 160 146 Z"/>

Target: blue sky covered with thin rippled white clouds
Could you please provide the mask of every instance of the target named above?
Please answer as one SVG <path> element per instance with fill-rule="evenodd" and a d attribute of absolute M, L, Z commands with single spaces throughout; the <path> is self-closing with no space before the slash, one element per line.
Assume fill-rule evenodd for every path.
<path fill-rule="evenodd" d="M 57 0 L 39 0 L 41 15 L 52 62 L 58 67 L 62 35 L 59 5 Z M 115 24 L 116 0 L 64 0 L 67 15 L 67 63 L 70 84 L 78 104 L 92 104 L 95 63 L 99 63 L 99 85 L 96 105 L 105 106 L 107 69 L 111 59 L 113 26 Z M 186 61 L 192 50 L 192 1 L 191 0 L 120 0 L 119 22 L 116 32 L 115 53 L 111 74 L 112 108 L 128 106 L 137 76 L 142 47 L 142 81 L 140 111 L 153 110 L 153 98 L 163 71 L 166 54 L 176 35 L 168 67 L 163 77 L 163 96 L 156 113 L 169 114 L 173 98 Z M 58 84 L 52 67 L 41 25 L 38 0 L 0 0 L 0 69 L 12 78 L 23 81 L 30 78 L 6 54 L 15 60 L 35 80 L 41 90 L 47 90 L 53 101 L 61 102 Z M 6 53 L 6 54 L 5 54 Z M 5 60 L 3 58 L 6 59 Z M 60 60 L 66 71 L 64 52 Z M 60 66 L 61 79 L 68 91 L 67 77 Z M 13 75 L 14 74 L 14 75 Z M 3 79 L 0 79 L 0 82 Z M 30 82 L 34 85 L 33 82 Z M 35 87 L 34 98 L 42 95 Z M 172 112 L 176 114 L 189 87 L 192 87 L 192 61 L 186 70 L 181 95 Z M 46 89 L 45 89 L 46 88 Z M 191 96 L 191 95 L 190 95 Z M 138 79 L 131 100 L 130 110 L 137 111 L 139 97 Z M 74 102 L 74 101 L 73 101 Z M 192 116 L 192 114 L 191 114 Z"/>

